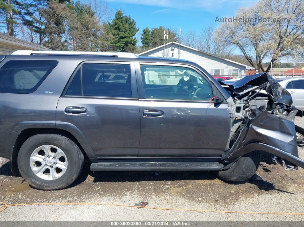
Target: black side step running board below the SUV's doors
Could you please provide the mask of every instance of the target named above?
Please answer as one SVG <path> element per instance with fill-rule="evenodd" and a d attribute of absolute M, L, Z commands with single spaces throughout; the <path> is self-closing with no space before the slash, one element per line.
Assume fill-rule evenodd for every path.
<path fill-rule="evenodd" d="M 121 162 L 119 162 L 121 161 Z M 91 164 L 91 171 L 204 171 L 223 169 L 219 162 L 128 162 L 126 160 L 111 160 Z"/>

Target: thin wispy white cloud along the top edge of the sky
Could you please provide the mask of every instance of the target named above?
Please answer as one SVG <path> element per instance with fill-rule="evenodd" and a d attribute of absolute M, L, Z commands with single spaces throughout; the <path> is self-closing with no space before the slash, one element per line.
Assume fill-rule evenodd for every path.
<path fill-rule="evenodd" d="M 121 2 L 137 5 L 160 6 L 166 8 L 202 8 L 217 5 L 223 2 L 235 2 L 236 0 L 107 0 L 108 2 Z"/>

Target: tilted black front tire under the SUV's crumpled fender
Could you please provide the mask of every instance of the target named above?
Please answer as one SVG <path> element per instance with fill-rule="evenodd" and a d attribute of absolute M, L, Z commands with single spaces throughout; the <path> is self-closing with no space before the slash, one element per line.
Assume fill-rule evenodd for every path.
<path fill-rule="evenodd" d="M 215 174 L 225 181 L 246 181 L 252 177 L 259 168 L 261 162 L 261 151 L 252 151 L 226 170 L 216 171 Z"/>

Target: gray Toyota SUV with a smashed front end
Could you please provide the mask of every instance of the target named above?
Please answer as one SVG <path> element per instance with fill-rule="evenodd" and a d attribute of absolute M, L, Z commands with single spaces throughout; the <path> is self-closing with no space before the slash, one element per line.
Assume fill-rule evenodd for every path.
<path fill-rule="evenodd" d="M 269 74 L 217 82 L 199 65 L 131 53 L 16 51 L 0 62 L 0 156 L 30 185 L 92 171 L 256 172 L 261 151 L 304 167 L 304 129 Z M 296 133 L 297 131 L 297 133 Z"/>

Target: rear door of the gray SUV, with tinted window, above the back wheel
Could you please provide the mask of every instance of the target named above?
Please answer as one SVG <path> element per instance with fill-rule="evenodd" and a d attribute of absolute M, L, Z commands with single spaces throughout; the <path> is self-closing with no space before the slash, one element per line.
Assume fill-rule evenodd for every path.
<path fill-rule="evenodd" d="M 57 122 L 75 125 L 97 157 L 136 157 L 140 115 L 134 63 L 84 62 L 57 105 Z"/>

